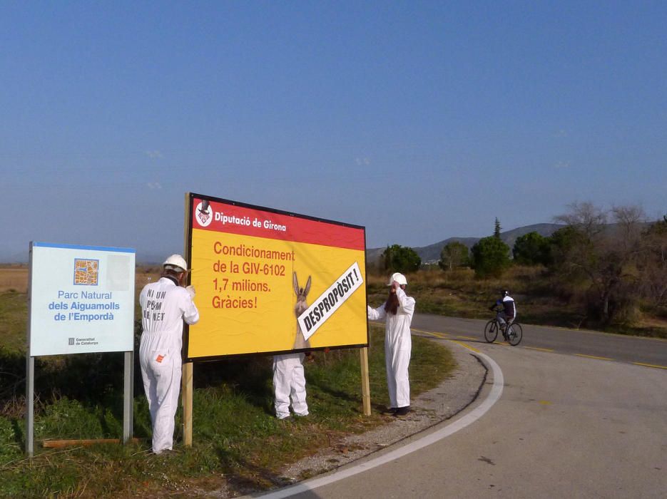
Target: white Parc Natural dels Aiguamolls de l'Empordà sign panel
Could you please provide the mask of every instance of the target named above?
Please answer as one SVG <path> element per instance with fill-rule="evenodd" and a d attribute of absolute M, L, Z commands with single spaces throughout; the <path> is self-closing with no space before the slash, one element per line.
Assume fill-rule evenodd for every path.
<path fill-rule="evenodd" d="M 32 242 L 30 356 L 132 351 L 135 256 Z"/>

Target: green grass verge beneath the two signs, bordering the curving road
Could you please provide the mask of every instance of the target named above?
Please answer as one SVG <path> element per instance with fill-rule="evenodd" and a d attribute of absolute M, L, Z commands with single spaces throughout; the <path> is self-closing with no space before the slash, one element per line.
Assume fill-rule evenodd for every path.
<path fill-rule="evenodd" d="M 41 441 L 48 438 L 118 438 L 122 433 L 122 380 L 114 380 L 120 377 L 121 356 L 51 359 L 36 368 L 48 375 L 36 383 L 36 455 L 32 460 L 23 453 L 21 396 L 3 392 L 0 496 L 190 497 L 192 490 L 215 490 L 223 485 L 238 491 L 284 485 L 280 469 L 285 463 L 330 446 L 345 434 L 388 421 L 379 413 L 388 403 L 384 334 L 375 324 L 371 329 L 371 416 L 362 414 L 358 350 L 315 352 L 315 361 L 305 366 L 310 416 L 293 421 L 279 421 L 273 415 L 270 357 L 195 364 L 193 447 L 178 444 L 182 438 L 179 410 L 178 452 L 170 456 L 150 453 L 151 424 L 141 390 L 136 391 L 134 403 L 134 436 L 141 438 L 140 443 L 41 448 Z M 0 361 L 20 370 L 24 356 L 4 351 Z M 437 386 L 454 369 L 449 350 L 414 338 L 413 395 Z M 110 372 L 107 376 L 98 371 Z M 88 382 L 77 384 L 76 377 Z"/>

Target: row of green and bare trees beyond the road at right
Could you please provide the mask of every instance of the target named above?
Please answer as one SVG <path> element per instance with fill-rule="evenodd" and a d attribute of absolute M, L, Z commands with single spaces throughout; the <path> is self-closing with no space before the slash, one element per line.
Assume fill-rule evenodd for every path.
<path fill-rule="evenodd" d="M 667 215 L 651 222 L 641 207 L 604 210 L 584 202 L 570 205 L 556 222 L 565 227 L 549 237 L 529 232 L 510 248 L 496 219 L 494 235 L 471 249 L 461 242 L 443 247 L 439 267 L 472 267 L 477 277 L 487 278 L 501 277 L 514 264 L 542 266 L 559 296 L 583 290 L 587 317 L 601 324 L 631 320 L 640 303 L 667 307 Z M 383 264 L 392 272 L 414 272 L 421 259 L 411 248 L 394 245 L 385 249 Z"/>

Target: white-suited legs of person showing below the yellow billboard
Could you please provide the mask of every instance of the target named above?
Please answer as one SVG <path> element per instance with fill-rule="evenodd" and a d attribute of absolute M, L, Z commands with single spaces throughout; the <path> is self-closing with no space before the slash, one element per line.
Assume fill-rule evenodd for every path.
<path fill-rule="evenodd" d="M 273 356 L 275 415 L 279 419 L 290 416 L 290 398 L 292 399 L 292 410 L 297 416 L 308 415 L 306 379 L 303 375 L 304 357 L 304 354 Z"/>

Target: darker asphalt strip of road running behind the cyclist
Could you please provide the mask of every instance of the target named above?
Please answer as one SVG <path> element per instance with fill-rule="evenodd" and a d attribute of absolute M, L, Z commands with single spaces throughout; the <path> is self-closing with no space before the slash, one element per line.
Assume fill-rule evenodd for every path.
<path fill-rule="evenodd" d="M 519 321 L 520 322 L 520 321 Z M 457 319 L 429 314 L 416 314 L 412 328 L 438 331 L 450 339 L 484 341 L 484 324 L 479 319 Z M 593 356 L 600 359 L 656 366 L 667 369 L 667 340 L 605 334 L 597 331 L 564 329 L 521 324 L 524 338 L 519 348 L 543 349 L 561 354 Z"/>

